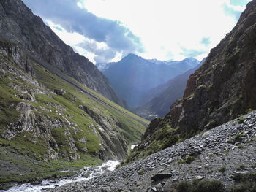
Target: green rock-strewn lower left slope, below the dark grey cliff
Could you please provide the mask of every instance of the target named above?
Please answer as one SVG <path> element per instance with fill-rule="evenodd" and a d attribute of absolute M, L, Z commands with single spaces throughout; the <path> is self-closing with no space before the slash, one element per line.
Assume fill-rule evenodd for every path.
<path fill-rule="evenodd" d="M 0 188 L 124 158 L 145 130 L 142 118 L 53 71 L 0 40 Z"/>

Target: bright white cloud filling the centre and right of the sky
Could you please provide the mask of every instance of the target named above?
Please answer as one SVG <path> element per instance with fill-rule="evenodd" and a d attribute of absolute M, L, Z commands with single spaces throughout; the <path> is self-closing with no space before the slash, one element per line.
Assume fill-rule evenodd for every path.
<path fill-rule="evenodd" d="M 229 0 L 80 0 L 83 7 L 95 15 L 120 20 L 146 47 L 145 58 L 182 59 L 181 47 L 198 50 L 205 57 L 225 34 L 236 25 L 234 15 L 228 15 L 226 5 L 242 12 L 244 6 L 234 6 Z M 206 47 L 203 37 L 211 39 Z M 164 47 L 164 49 L 163 49 Z M 172 53 L 172 54 L 170 54 Z M 169 55 L 169 58 L 168 56 Z M 173 58 L 170 58 L 173 55 Z"/>

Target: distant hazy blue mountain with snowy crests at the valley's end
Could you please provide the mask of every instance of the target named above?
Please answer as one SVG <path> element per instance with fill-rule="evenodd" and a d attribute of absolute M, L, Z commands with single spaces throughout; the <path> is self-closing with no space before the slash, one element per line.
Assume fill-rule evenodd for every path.
<path fill-rule="evenodd" d="M 155 62 L 129 54 L 121 61 L 110 65 L 103 74 L 108 77 L 118 96 L 127 101 L 128 107 L 137 107 L 144 101 L 143 95 L 146 91 L 199 64 L 194 58 L 171 61 L 167 64 Z"/>

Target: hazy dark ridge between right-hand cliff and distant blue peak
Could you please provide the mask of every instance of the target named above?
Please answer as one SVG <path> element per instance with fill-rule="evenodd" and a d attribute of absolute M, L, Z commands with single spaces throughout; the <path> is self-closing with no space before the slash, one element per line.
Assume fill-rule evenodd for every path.
<path fill-rule="evenodd" d="M 143 96 L 145 98 L 144 101 L 146 101 L 145 104 L 135 108 L 133 111 L 140 115 L 140 117 L 149 120 L 152 120 L 152 118 L 163 118 L 170 111 L 170 106 L 174 101 L 182 98 L 189 75 L 194 73 L 203 64 L 203 61 L 184 74 L 174 77 L 163 85 L 152 88 Z"/>

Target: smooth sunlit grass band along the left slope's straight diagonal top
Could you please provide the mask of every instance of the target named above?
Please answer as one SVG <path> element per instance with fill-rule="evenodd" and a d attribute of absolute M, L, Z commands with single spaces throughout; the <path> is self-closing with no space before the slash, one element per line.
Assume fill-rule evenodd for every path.
<path fill-rule="evenodd" d="M 87 88 L 86 86 L 80 84 L 80 82 L 72 79 L 59 72 L 59 76 L 64 75 L 65 79 L 44 70 L 42 66 L 36 64 L 37 80 L 42 82 L 48 88 L 54 89 L 64 89 L 68 91 L 70 96 L 75 96 L 80 101 L 83 102 L 86 107 L 97 108 L 100 112 L 104 112 L 105 115 L 110 115 L 118 119 L 121 123 L 124 123 L 124 127 L 121 132 L 124 133 L 125 139 L 128 144 L 132 142 L 138 142 L 140 140 L 140 135 L 146 131 L 146 126 L 149 121 L 140 118 L 132 112 L 124 109 L 118 104 L 106 99 L 99 93 Z"/>

